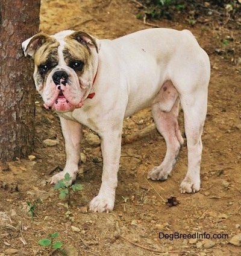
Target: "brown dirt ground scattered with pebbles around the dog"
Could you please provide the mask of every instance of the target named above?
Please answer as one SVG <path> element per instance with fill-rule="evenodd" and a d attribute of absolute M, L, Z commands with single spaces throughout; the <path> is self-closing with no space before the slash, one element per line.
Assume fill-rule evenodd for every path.
<path fill-rule="evenodd" d="M 200 14 L 195 25 L 186 20 L 190 13 L 145 24 L 142 18 L 136 19 L 136 14 L 143 12 L 139 7 L 138 2 L 128 0 L 42 0 L 40 30 L 51 34 L 71 28 L 110 39 L 151 24 L 191 30 L 211 60 L 201 190 L 180 194 L 187 168 L 186 146 L 167 181 L 146 179 L 148 171 L 164 158 L 166 147 L 156 130 L 135 139 L 153 122 L 150 109 L 145 109 L 124 121 L 123 137 L 134 139 L 122 147 L 114 211 L 99 214 L 87 210 L 101 184 L 102 158 L 99 146 L 90 146 L 86 140 L 83 152 L 87 159 L 76 181 L 83 190 L 72 193 L 68 206 L 48 182 L 64 167 L 60 123 L 37 97 L 36 158 L 1 164 L 0 256 L 241 255 L 240 247 L 230 243 L 241 235 L 241 19 L 219 17 L 210 6 L 213 13 Z M 183 131 L 182 113 L 180 126 Z M 84 133 L 91 131 L 86 127 Z M 46 146 L 45 139 L 58 144 Z M 168 206 L 165 201 L 171 196 L 180 203 Z M 54 232 L 58 232 L 63 249 L 52 253 L 38 241 Z M 175 232 L 183 237 L 172 239 Z M 192 237 L 184 237 L 187 234 Z"/>

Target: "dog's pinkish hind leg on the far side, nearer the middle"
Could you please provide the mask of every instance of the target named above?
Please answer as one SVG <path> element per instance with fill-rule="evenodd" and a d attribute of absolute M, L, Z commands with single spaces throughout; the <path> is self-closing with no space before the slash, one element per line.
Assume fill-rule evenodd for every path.
<path fill-rule="evenodd" d="M 171 81 L 162 86 L 152 104 L 152 114 L 158 132 L 166 142 L 166 155 L 163 162 L 154 167 L 148 178 L 164 181 L 171 173 L 183 144 L 183 137 L 178 127 L 179 96 Z"/>

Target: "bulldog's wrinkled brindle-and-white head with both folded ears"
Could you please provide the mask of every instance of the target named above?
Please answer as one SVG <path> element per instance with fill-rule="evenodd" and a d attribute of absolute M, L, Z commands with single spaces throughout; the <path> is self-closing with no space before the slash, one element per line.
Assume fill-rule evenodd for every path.
<path fill-rule="evenodd" d="M 39 33 L 22 48 L 34 59 L 34 82 L 47 109 L 66 112 L 83 106 L 98 68 L 98 39 L 82 31 Z"/>

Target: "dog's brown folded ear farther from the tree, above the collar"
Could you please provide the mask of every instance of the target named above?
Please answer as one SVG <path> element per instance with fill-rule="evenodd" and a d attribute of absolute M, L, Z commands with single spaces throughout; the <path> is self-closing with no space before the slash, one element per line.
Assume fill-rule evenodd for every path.
<path fill-rule="evenodd" d="M 90 36 L 90 34 L 83 31 L 75 31 L 74 33 L 70 34 L 70 37 L 77 40 L 82 45 L 86 45 L 88 48 L 95 47 L 96 52 L 99 53 L 101 41 L 93 36 Z"/>

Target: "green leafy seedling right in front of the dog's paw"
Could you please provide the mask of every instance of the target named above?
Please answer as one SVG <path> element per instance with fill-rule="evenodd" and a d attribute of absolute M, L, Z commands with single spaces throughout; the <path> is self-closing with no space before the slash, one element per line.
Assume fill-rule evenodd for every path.
<path fill-rule="evenodd" d="M 82 190 L 83 187 L 81 184 L 71 184 L 71 177 L 69 173 L 64 175 L 64 179 L 61 179 L 57 182 L 54 186 L 54 190 L 58 190 L 60 192 L 59 197 L 60 199 L 66 198 L 68 196 L 68 205 L 70 205 L 70 194 L 71 191 Z"/>

